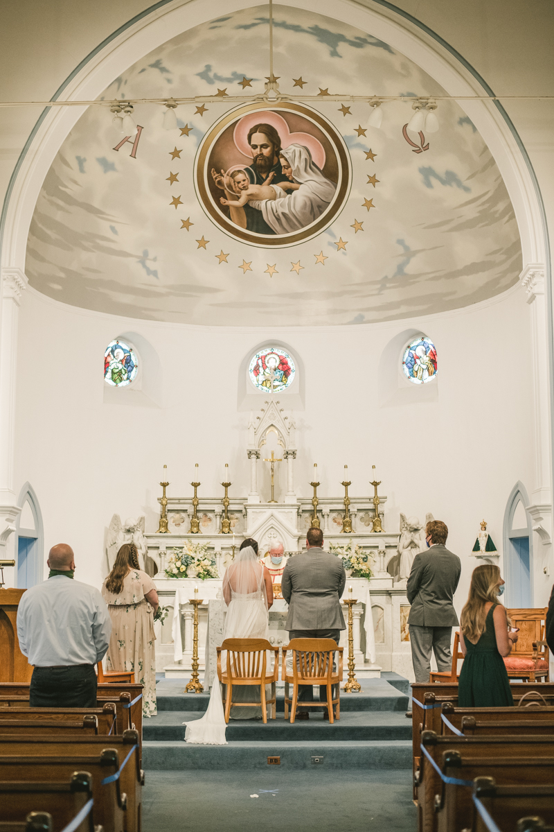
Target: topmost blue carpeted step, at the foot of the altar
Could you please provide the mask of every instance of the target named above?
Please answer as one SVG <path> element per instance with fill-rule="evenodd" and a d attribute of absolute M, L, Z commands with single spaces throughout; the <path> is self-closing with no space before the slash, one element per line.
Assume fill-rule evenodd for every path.
<path fill-rule="evenodd" d="M 396 676 L 396 674 L 394 674 Z M 400 684 L 401 676 L 393 680 Z M 407 711 L 409 699 L 385 679 L 360 680 L 360 693 L 341 691 L 341 711 Z M 156 685 L 158 711 L 205 711 L 208 693 L 184 693 L 184 681 L 162 679 Z M 277 711 L 284 711 L 282 687 L 277 688 Z"/>

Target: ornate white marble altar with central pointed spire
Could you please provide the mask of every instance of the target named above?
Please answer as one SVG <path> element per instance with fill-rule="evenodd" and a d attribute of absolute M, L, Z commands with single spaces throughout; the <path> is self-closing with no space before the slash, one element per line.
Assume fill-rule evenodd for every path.
<path fill-rule="evenodd" d="M 208 631 L 208 602 L 220 597 L 221 578 L 225 567 L 233 558 L 233 547 L 238 547 L 245 537 L 253 537 L 259 544 L 262 557 L 273 539 L 282 541 L 285 552 L 294 556 L 305 546 L 306 532 L 311 525 L 313 506 L 311 498 L 298 498 L 294 484 L 294 463 L 297 458 L 296 430 L 292 414 L 283 415 L 279 401 L 266 402 L 261 415 L 251 416 L 248 426 L 248 459 L 250 463 L 250 492 L 237 498 L 229 494 L 228 517 L 231 533 L 221 533 L 224 513 L 223 498 L 199 497 L 197 516 L 199 534 L 190 533 L 190 519 L 194 514 L 193 495 L 190 497 L 169 497 L 167 515 L 169 533 L 146 534 L 149 556 L 158 567 L 155 576 L 160 603 L 169 607 L 169 616 L 163 626 L 156 624 L 156 669 L 168 677 L 189 676 L 193 648 L 193 607 L 187 602 L 194 597 L 194 587 L 199 587 L 203 605 L 199 608 L 199 661 L 203 669 Z M 268 439 L 277 441 L 282 463 L 287 466 L 287 490 L 282 503 L 263 502 L 258 488 L 258 466 L 267 451 Z M 269 452 L 267 452 L 269 453 Z M 368 489 L 370 486 L 368 485 Z M 192 489 L 191 489 L 192 490 Z M 232 489 L 231 489 L 232 490 Z M 265 496 L 265 495 L 264 495 Z M 383 519 L 386 497 L 380 495 L 379 515 Z M 394 583 L 387 566 L 397 554 L 398 533 L 371 532 L 375 518 L 373 497 L 351 497 L 350 503 L 352 532 L 341 532 L 345 506 L 344 495 L 333 498 L 321 497 L 317 505 L 317 517 L 324 534 L 324 548 L 330 543 L 345 546 L 348 542 L 358 545 L 373 558 L 374 577 L 348 577 L 346 593 L 353 588 L 358 599 L 354 612 L 354 646 L 356 673 L 359 676 L 380 676 L 381 671 L 395 671 L 402 676 L 412 676 L 409 636 L 405 626 L 408 601 L 405 596 L 405 581 Z M 383 523 L 385 525 L 385 523 Z M 164 574 L 168 550 L 183 546 L 184 541 L 208 543 L 218 563 L 220 578 L 200 581 L 198 578 L 166 578 Z M 368 595 L 369 590 L 369 595 Z M 375 634 L 375 648 L 367 622 L 370 597 L 371 617 Z M 179 605 L 179 614 L 175 612 Z M 277 598 L 270 610 L 271 641 L 276 645 L 286 644 L 287 632 L 284 622 L 287 604 Z M 175 621 L 174 621 L 175 619 Z M 179 625 L 179 629 L 176 629 Z M 173 628 L 173 633 L 172 633 Z M 175 637 L 174 637 L 175 635 Z M 341 645 L 347 651 L 347 631 L 343 631 Z"/>

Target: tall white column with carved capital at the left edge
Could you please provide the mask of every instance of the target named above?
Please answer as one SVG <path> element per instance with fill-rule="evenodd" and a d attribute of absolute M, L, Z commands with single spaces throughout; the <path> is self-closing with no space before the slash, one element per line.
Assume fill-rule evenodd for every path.
<path fill-rule="evenodd" d="M 12 532 L 21 508 L 16 505 L 13 482 L 14 427 L 17 371 L 17 324 L 27 277 L 21 269 L 2 269 L 0 329 L 0 557 L 16 559 Z M 15 572 L 7 569 L 8 587 Z"/>

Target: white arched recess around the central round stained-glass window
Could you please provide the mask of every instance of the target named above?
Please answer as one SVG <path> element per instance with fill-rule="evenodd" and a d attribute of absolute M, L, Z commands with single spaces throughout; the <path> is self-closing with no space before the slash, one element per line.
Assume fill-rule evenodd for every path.
<path fill-rule="evenodd" d="M 290 389 L 270 393 L 268 390 L 257 389 L 252 384 L 248 371 L 252 356 L 269 346 L 283 349 L 294 361 L 295 374 Z M 306 409 L 304 377 L 304 362 L 296 349 L 292 349 L 289 344 L 280 339 L 264 339 L 248 350 L 238 368 L 237 409 L 239 411 L 259 410 L 263 407 L 264 399 L 279 399 L 284 409 L 304 410 Z"/>

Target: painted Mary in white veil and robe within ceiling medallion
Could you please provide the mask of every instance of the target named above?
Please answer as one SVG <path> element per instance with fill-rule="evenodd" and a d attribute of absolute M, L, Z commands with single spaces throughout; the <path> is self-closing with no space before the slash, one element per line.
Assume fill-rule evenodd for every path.
<path fill-rule="evenodd" d="M 299 187 L 286 196 L 277 199 L 251 201 L 252 208 L 262 211 L 263 219 L 276 234 L 290 234 L 311 225 L 331 204 L 335 196 L 336 183 L 323 176 L 303 145 L 289 145 L 281 151 L 292 169 L 292 181 Z"/>

